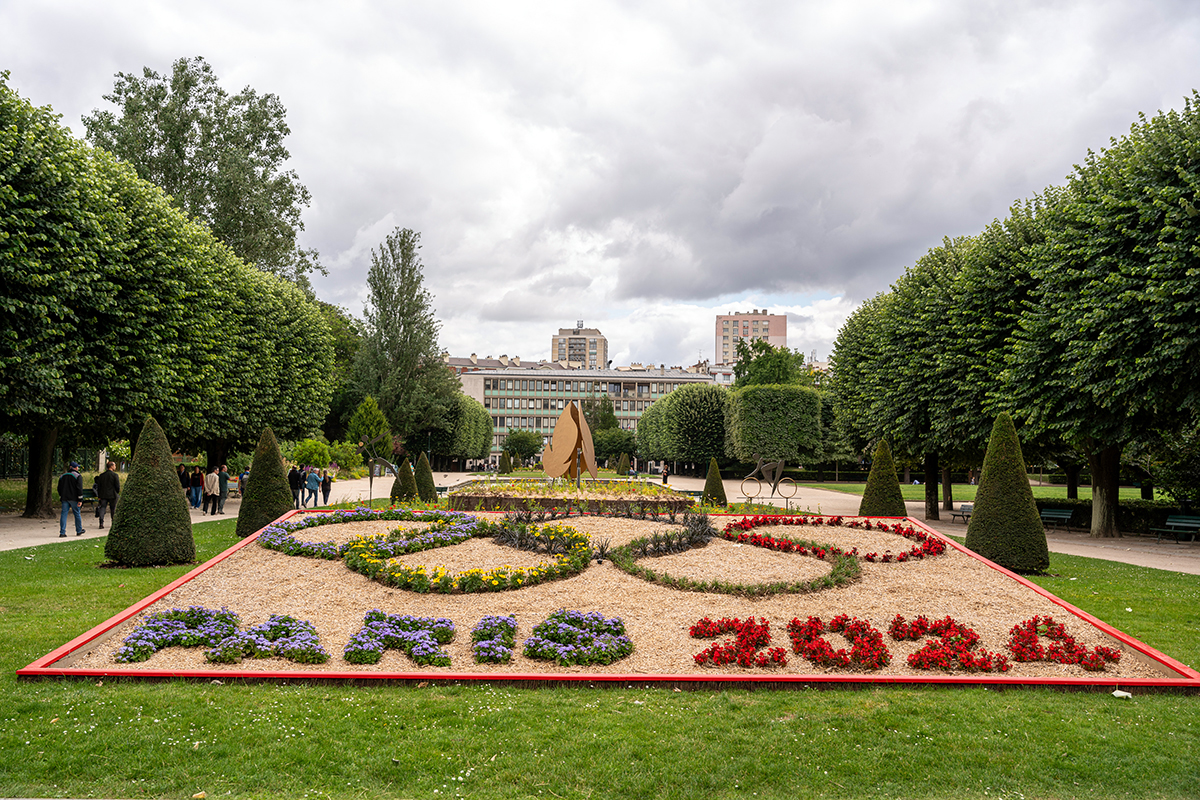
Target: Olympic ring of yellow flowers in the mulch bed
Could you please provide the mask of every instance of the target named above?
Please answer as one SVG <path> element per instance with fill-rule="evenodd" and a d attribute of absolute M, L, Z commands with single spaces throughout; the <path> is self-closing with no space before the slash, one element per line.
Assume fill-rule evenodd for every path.
<path fill-rule="evenodd" d="M 500 528 L 500 525 L 476 521 L 472 527 L 470 535 L 492 535 Z M 379 537 L 360 536 L 350 542 L 346 553 L 346 565 L 384 585 L 421 594 L 520 589 L 578 575 L 587 569 L 592 560 L 592 546 L 586 534 L 565 525 L 546 525 L 540 531 L 536 525 L 530 525 L 530 529 L 536 536 L 552 543 L 551 549 L 556 553 L 553 561 L 542 561 L 529 569 L 504 565 L 487 571 L 475 569 L 450 572 L 443 566 L 430 569 L 421 564 L 415 566 L 403 564 L 397 560 L 395 547 L 385 546 Z M 445 536 L 443 534 L 438 534 L 438 536 L 442 537 L 440 543 L 431 543 L 433 540 L 427 540 L 425 535 L 415 539 L 420 540 L 420 549 L 457 543 L 451 541 L 457 536 L 452 531 L 446 531 Z"/>

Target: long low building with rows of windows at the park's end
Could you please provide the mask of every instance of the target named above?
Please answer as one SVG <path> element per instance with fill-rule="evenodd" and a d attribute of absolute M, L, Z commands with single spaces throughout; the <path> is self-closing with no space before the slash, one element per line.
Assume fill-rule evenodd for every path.
<path fill-rule="evenodd" d="M 710 384 L 713 375 L 679 368 L 618 369 L 481 369 L 461 375 L 462 391 L 492 415 L 492 459 L 498 461 L 512 431 L 535 431 L 548 441 L 568 401 L 605 397 L 620 427 L 637 429 L 637 420 L 655 401 L 688 384 Z"/>

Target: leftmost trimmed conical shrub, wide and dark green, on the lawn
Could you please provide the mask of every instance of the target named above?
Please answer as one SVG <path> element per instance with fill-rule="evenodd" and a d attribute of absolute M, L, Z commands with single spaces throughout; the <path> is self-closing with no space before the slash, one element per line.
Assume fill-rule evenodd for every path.
<path fill-rule="evenodd" d="M 192 515 L 179 487 L 175 459 L 154 417 L 138 437 L 125 491 L 116 500 L 104 555 L 126 566 L 196 560 Z"/>

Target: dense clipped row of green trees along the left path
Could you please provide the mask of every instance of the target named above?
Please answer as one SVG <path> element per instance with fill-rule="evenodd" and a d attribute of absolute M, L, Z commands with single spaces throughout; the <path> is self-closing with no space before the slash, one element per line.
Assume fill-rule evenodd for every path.
<path fill-rule="evenodd" d="M 29 437 L 26 516 L 49 513 L 60 440 L 132 439 L 154 415 L 176 443 L 241 443 L 324 417 L 328 335 L 307 297 L 6 80 L 0 275 L 0 431 Z"/>

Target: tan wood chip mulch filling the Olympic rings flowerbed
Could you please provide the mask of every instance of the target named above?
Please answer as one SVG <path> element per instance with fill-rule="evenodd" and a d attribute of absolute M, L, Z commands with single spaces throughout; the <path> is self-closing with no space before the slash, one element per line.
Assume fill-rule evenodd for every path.
<path fill-rule="evenodd" d="M 718 525 L 724 518 L 716 518 Z M 592 536 L 593 543 L 608 539 L 613 546 L 638 536 L 672 528 L 662 522 L 624 518 L 575 517 L 571 527 Z M 355 522 L 323 525 L 299 531 L 299 539 L 343 542 L 359 534 L 383 534 L 397 527 L 415 528 L 414 523 Z M 913 542 L 881 531 L 864 531 L 841 527 L 779 527 L 768 529 L 773 536 L 810 540 L 836 545 L 844 549 L 858 547 L 860 553 L 900 553 Z M 403 557 L 409 564 L 443 565 L 451 571 L 472 567 L 490 570 L 502 565 L 528 567 L 545 560 L 545 555 L 518 552 L 496 545 L 492 540 L 472 540 L 454 547 L 438 548 Z M 829 571 L 829 564 L 811 557 L 779 553 L 750 545 L 714 540 L 707 547 L 650 559 L 655 571 L 688 576 L 697 581 L 721 579 L 752 584 L 785 581 L 806 581 Z M 494 674 L 713 674 L 720 672 L 739 675 L 812 675 L 846 674 L 852 670 L 828 670 L 815 667 L 791 652 L 786 625 L 793 618 L 809 615 L 829 621 L 838 614 L 868 619 L 884 633 L 892 662 L 878 673 L 889 675 L 929 675 L 907 664 L 907 656 L 922 642 L 895 642 L 887 636 L 888 625 L 896 614 L 912 619 L 924 614 L 929 619 L 953 616 L 973 627 L 982 637 L 980 646 L 1008 655 L 1009 630 L 1034 614 L 1054 615 L 1067 625 L 1067 631 L 1088 648 L 1098 644 L 1120 646 L 1110 637 L 1069 615 L 1049 600 L 1026 589 L 1015 581 L 984 564 L 948 547 L 944 555 L 902 564 L 870 564 L 862 561 L 862 578 L 850 585 L 812 594 L 786 594 L 763 599 L 679 591 L 647 583 L 629 576 L 611 561 L 593 563 L 581 575 L 552 583 L 515 591 L 496 594 L 440 595 L 415 594 L 389 589 L 352 572 L 341 561 L 289 557 L 257 545 L 244 547 L 230 558 L 180 587 L 139 616 L 120 626 L 110 636 L 91 645 L 83 654 L 74 654 L 55 666 L 92 669 L 157 669 L 230 672 L 362 672 L 362 673 L 427 673 L 430 675 Z M 238 664 L 211 664 L 202 648 L 170 648 L 149 661 L 119 664 L 113 652 L 121 640 L 152 612 L 187 606 L 208 608 L 227 607 L 241 616 L 244 626 L 265 621 L 271 614 L 290 614 L 311 621 L 320 642 L 330 654 L 325 664 L 298 664 L 282 658 L 244 660 Z M 362 615 L 371 609 L 389 614 L 446 616 L 455 621 L 457 634 L 446 645 L 451 666 L 445 668 L 418 667 L 406 655 L 388 651 L 378 664 L 352 664 L 342 658 L 342 648 L 362 625 Z M 606 667 L 559 667 L 534 661 L 521 655 L 520 644 L 532 628 L 550 613 L 560 609 L 601 612 L 625 621 L 634 652 Z M 518 622 L 517 648 L 509 664 L 476 664 L 470 651 L 470 630 L 488 614 L 515 614 Z M 692 639 L 688 628 L 698 619 L 709 616 L 766 618 L 770 622 L 772 646 L 788 649 L 786 667 L 750 669 L 739 667 L 698 667 L 692 656 L 712 644 L 710 639 Z M 724 637 L 722 637 L 724 638 Z M 850 648 L 840 634 L 828 636 L 834 648 Z M 1109 664 L 1105 678 L 1163 678 L 1164 673 L 1126 651 L 1117 664 Z M 958 673 L 961 674 L 961 673 Z M 1048 662 L 1013 663 L 1006 676 L 1084 678 L 1092 675 L 1078 666 Z"/>

